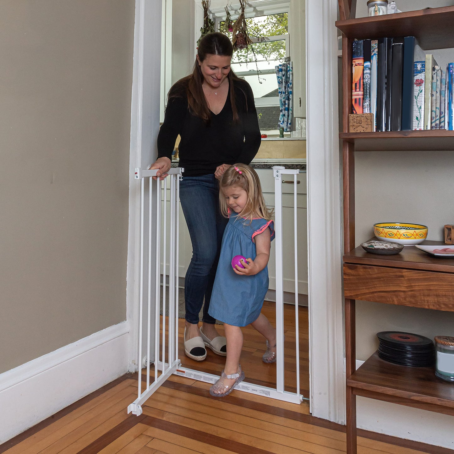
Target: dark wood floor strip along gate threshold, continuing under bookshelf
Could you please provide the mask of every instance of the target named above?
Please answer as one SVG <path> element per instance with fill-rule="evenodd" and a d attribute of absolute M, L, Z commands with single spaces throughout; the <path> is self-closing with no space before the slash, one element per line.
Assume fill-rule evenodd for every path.
<path fill-rule="evenodd" d="M 210 397 L 217 400 L 216 397 L 211 397 L 207 390 L 197 388 L 191 385 L 185 385 L 183 383 L 178 383 L 174 381 L 166 381 L 163 386 L 166 388 L 172 388 L 175 390 L 180 390 L 183 392 L 200 395 L 203 397 Z M 318 427 L 324 427 L 326 429 L 336 430 L 337 432 L 346 432 L 345 425 L 337 424 L 326 419 L 316 418 L 312 415 L 301 414 L 297 411 L 285 410 L 283 408 L 277 408 L 272 405 L 262 404 L 258 402 L 253 402 L 251 400 L 242 399 L 241 397 L 236 397 L 232 394 L 223 397 L 222 400 L 233 405 L 238 405 L 244 408 L 249 408 L 251 410 L 262 411 L 269 415 L 281 416 L 282 418 L 292 419 L 294 421 L 303 422 L 306 424 L 316 425 Z M 368 438 L 375 441 L 381 441 L 383 443 L 395 444 L 396 446 L 401 446 L 402 448 L 415 449 L 417 451 L 422 451 L 429 454 L 454 454 L 454 450 L 448 448 L 442 448 L 440 446 L 434 446 L 432 444 L 422 443 L 420 441 L 413 441 L 398 437 L 393 437 L 391 435 L 379 434 L 377 432 L 371 432 L 369 430 L 358 429 L 358 436 Z"/>

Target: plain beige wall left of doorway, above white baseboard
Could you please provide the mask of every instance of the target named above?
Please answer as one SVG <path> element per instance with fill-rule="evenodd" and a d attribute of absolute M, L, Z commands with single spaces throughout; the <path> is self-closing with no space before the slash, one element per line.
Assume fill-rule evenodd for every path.
<path fill-rule="evenodd" d="M 125 320 L 134 2 L 0 15 L 0 373 Z"/>

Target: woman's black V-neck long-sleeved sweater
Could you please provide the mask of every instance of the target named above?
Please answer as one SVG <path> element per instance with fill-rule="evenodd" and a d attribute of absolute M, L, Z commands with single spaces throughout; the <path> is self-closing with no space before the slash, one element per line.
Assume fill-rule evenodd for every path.
<path fill-rule="evenodd" d="M 240 80 L 234 86 L 239 116 L 236 123 L 232 119 L 230 86 L 222 111 L 217 115 L 212 113 L 208 124 L 189 112 L 186 94 L 170 98 L 158 134 L 158 158 L 172 159 L 175 140 L 180 134 L 178 156 L 179 166 L 184 168 L 183 176 L 214 173 L 221 164 L 249 164 L 260 147 L 257 111 L 249 84 Z"/>

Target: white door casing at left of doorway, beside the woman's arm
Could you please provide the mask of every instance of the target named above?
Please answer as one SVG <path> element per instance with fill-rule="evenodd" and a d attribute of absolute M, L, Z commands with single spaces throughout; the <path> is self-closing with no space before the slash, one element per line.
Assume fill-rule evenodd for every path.
<path fill-rule="evenodd" d="M 126 320 L 131 327 L 128 365 L 137 370 L 140 291 L 140 184 L 135 168 L 148 168 L 157 157 L 161 87 L 161 0 L 136 0 L 129 149 L 129 225 Z"/>

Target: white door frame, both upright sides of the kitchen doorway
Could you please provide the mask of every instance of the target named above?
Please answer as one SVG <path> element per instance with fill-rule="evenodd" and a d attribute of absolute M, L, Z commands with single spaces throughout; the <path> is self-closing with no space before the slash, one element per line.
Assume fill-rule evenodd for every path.
<path fill-rule="evenodd" d="M 138 352 L 140 197 L 133 169 L 156 156 L 162 0 L 136 0 L 131 109 L 127 320 L 130 370 Z M 306 3 L 308 263 L 311 412 L 345 421 L 336 0 Z M 310 69 L 310 70 L 309 70 Z"/>

